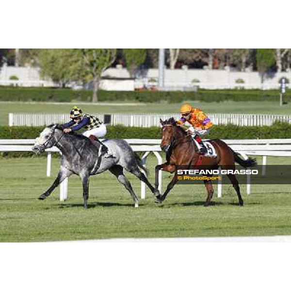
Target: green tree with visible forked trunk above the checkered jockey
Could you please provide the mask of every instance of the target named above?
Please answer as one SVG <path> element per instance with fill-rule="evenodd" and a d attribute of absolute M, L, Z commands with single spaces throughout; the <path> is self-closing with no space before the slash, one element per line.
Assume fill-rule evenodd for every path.
<path fill-rule="evenodd" d="M 81 49 L 83 60 L 83 80 L 90 81 L 93 78 L 92 101 L 97 102 L 97 91 L 101 74 L 113 64 L 116 58 L 116 49 Z"/>

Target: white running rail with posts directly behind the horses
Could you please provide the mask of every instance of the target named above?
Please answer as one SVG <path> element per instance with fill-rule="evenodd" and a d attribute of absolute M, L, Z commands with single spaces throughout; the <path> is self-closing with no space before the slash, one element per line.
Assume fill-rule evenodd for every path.
<path fill-rule="evenodd" d="M 162 164 L 162 157 L 159 154 L 161 151 L 161 140 L 141 140 L 128 139 L 126 140 L 134 151 L 145 152 L 143 163 L 146 164 L 146 157 L 153 152 L 158 159 L 158 164 Z M 261 139 L 261 140 L 224 140 L 233 150 L 240 152 L 246 159 L 247 155 L 262 156 L 262 175 L 266 173 L 267 156 L 291 157 L 291 139 Z M 1 151 L 32 151 L 34 140 L 0 140 Z M 50 177 L 51 169 L 51 152 L 59 152 L 58 148 L 52 147 L 46 150 L 48 152 L 47 176 Z M 221 180 L 220 180 L 221 181 Z M 60 200 L 64 201 L 67 198 L 68 179 L 65 179 L 60 186 Z M 146 197 L 146 186 L 141 182 L 141 198 Z M 250 176 L 247 177 L 246 185 L 247 194 L 251 193 Z M 162 190 L 162 172 L 159 172 L 159 190 Z M 217 196 L 222 196 L 222 181 L 218 184 Z"/>

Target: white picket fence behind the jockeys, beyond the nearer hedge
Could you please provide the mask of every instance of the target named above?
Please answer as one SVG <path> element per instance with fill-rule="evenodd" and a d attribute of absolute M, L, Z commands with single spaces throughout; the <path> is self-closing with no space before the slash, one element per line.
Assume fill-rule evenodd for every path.
<path fill-rule="evenodd" d="M 120 114 L 111 115 L 111 125 L 124 125 L 135 127 L 160 126 L 162 120 L 174 117 L 178 119 L 178 113 L 145 113 L 145 114 Z M 103 113 L 94 113 L 103 120 Z M 291 115 L 279 114 L 229 114 L 210 113 L 209 118 L 213 124 L 234 124 L 238 126 L 270 126 L 275 121 L 291 123 Z M 43 113 L 9 113 L 9 126 L 45 126 L 54 123 L 65 123 L 70 120 L 69 114 L 43 114 Z"/>

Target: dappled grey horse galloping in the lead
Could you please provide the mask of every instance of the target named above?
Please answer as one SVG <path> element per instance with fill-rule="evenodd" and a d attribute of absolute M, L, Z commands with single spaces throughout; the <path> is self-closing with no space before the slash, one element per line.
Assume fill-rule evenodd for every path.
<path fill-rule="evenodd" d="M 98 156 L 100 156 L 98 154 L 100 152 L 100 144 L 92 142 L 83 135 L 74 132 L 64 133 L 62 126 L 57 124 L 45 128 L 39 137 L 35 139 L 35 144 L 32 147 L 33 152 L 39 154 L 46 148 L 56 146 L 62 152 L 62 158 L 58 177 L 49 189 L 39 196 L 39 199 L 46 199 L 65 178 L 76 174 L 82 180 L 84 208 L 87 209 L 89 176 L 109 170 L 129 191 L 135 205 L 138 205 L 138 198 L 134 194 L 129 180 L 124 176 L 123 168 L 145 182 L 155 197 L 160 197 L 159 190 L 149 183 L 144 173 L 139 169 L 146 171 L 140 158 L 125 140 L 107 139 L 103 143 L 109 147 L 113 153 L 113 158 L 104 158 L 101 155 L 100 159 L 98 159 Z"/>

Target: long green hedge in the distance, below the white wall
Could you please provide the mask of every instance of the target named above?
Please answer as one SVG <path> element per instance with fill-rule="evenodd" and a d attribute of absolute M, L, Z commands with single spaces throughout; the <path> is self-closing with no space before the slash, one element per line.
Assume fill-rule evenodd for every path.
<path fill-rule="evenodd" d="M 0 87 L 0 101 L 55 101 L 89 102 L 92 90 L 72 90 L 64 88 L 23 88 Z M 205 102 L 234 101 L 277 101 L 279 90 L 204 90 L 198 92 L 162 92 L 162 91 L 98 91 L 99 101 L 131 102 L 169 102 L 180 103 L 186 100 Z M 284 101 L 291 101 L 291 89 L 284 95 Z"/>

